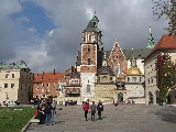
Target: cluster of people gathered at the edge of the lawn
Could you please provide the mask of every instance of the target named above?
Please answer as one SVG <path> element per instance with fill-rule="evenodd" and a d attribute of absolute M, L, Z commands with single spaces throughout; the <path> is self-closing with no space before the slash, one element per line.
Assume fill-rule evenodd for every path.
<path fill-rule="evenodd" d="M 56 100 L 42 100 L 35 110 L 35 119 L 38 119 L 41 124 L 53 125 L 53 116 L 56 116 Z"/>

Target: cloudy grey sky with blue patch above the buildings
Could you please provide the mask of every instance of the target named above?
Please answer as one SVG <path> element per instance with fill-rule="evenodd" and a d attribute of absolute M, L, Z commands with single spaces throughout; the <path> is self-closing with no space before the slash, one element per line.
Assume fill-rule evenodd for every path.
<path fill-rule="evenodd" d="M 32 73 L 65 72 L 76 63 L 81 34 L 96 11 L 105 51 L 155 44 L 167 21 L 153 19 L 152 0 L 1 0 L 0 63 L 24 61 Z"/>

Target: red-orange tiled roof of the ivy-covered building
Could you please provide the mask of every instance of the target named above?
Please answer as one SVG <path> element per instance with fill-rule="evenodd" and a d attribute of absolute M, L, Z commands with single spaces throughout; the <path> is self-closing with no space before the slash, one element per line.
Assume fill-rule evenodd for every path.
<path fill-rule="evenodd" d="M 158 50 L 176 50 L 176 36 L 164 34 L 147 57 Z"/>

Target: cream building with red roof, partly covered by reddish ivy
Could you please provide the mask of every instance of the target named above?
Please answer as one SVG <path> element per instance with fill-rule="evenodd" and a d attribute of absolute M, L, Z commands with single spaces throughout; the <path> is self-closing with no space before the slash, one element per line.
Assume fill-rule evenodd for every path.
<path fill-rule="evenodd" d="M 145 103 L 160 103 L 160 89 L 156 80 L 156 59 L 160 54 L 167 53 L 172 61 L 176 62 L 176 37 L 174 35 L 165 34 L 155 45 L 153 51 L 144 61 L 145 65 Z M 176 91 L 169 90 L 167 100 L 168 103 L 175 103 Z"/>

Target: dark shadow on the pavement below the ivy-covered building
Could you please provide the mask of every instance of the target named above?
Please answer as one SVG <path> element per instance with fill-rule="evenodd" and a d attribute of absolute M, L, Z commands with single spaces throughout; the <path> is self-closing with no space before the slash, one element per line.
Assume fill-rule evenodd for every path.
<path fill-rule="evenodd" d="M 162 107 L 162 106 L 161 106 Z M 155 112 L 165 122 L 176 123 L 176 108 L 163 108 Z"/>

